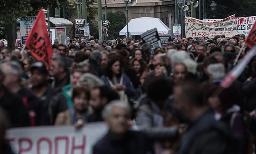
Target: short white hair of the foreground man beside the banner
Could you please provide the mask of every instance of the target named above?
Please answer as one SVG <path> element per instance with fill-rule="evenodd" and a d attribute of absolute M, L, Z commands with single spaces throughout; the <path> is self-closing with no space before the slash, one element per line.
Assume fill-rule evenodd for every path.
<path fill-rule="evenodd" d="M 111 101 L 108 105 L 106 105 L 104 107 L 104 109 L 102 111 L 102 117 L 104 119 L 107 119 L 110 117 L 114 106 L 127 110 L 128 114 L 130 115 L 130 106 L 127 103 L 125 103 L 121 100 L 114 100 L 114 101 Z"/>

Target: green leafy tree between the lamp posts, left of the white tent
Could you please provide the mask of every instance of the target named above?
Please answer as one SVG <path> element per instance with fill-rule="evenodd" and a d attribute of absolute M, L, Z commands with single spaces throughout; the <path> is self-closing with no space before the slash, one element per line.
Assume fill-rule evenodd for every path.
<path fill-rule="evenodd" d="M 105 15 L 103 18 L 105 19 Z M 107 13 L 107 20 L 110 22 L 109 29 L 108 29 L 108 39 L 116 39 L 119 36 L 120 30 L 124 28 L 126 25 L 126 17 L 123 12 L 108 12 Z"/>

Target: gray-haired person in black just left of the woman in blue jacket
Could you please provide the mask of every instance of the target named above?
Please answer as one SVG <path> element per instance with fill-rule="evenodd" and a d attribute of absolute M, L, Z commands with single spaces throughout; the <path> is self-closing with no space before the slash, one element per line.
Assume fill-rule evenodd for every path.
<path fill-rule="evenodd" d="M 98 50 L 94 50 L 89 55 L 89 64 L 91 67 L 92 74 L 98 76 L 99 78 L 103 75 L 103 68 L 100 66 L 102 61 L 102 55 Z"/>

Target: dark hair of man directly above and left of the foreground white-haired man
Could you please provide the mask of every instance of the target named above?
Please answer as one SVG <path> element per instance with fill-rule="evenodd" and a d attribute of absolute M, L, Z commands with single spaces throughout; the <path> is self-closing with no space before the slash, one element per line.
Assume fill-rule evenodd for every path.
<path fill-rule="evenodd" d="M 100 86 L 100 87 L 96 87 L 94 89 L 99 89 L 99 91 L 100 91 L 99 97 L 100 98 L 106 97 L 108 99 L 108 103 L 113 100 L 120 99 L 119 94 L 116 91 L 112 90 L 110 87 Z"/>

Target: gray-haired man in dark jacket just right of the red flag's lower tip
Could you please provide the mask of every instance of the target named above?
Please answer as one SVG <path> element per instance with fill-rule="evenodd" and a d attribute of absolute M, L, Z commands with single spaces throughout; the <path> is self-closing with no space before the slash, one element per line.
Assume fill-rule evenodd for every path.
<path fill-rule="evenodd" d="M 62 88 L 70 83 L 68 64 L 64 57 L 51 57 L 50 76 L 55 78 L 52 83 L 53 88 Z"/>

